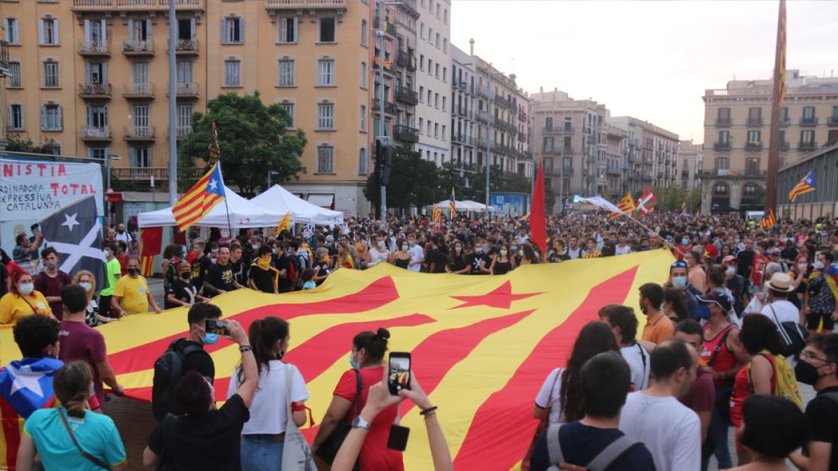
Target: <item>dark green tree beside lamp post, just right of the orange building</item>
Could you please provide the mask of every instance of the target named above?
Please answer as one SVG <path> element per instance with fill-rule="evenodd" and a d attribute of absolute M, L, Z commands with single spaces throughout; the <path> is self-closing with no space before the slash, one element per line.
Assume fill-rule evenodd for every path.
<path fill-rule="evenodd" d="M 409 148 L 393 149 L 390 182 L 387 184 L 387 206 L 409 211 L 411 206 L 434 204 L 439 190 L 437 165 L 422 160 L 422 154 Z M 379 189 L 375 185 L 375 174 L 367 178 L 364 196 L 377 201 Z M 451 191 L 448 189 L 448 191 Z"/>

